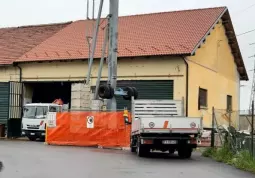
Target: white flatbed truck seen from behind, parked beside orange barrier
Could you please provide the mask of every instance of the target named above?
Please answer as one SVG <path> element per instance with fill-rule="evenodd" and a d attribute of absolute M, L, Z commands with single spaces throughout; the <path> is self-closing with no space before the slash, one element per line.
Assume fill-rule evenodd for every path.
<path fill-rule="evenodd" d="M 140 157 L 159 150 L 190 158 L 203 129 L 202 118 L 184 116 L 182 100 L 133 99 L 131 124 L 131 152 Z"/>

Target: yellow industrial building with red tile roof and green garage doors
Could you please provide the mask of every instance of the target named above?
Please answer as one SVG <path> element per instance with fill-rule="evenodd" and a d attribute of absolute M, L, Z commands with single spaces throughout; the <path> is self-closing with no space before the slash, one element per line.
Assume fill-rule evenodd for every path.
<path fill-rule="evenodd" d="M 105 23 L 102 19 L 90 94 Z M 0 29 L 0 122 L 9 123 L 9 132 L 15 135 L 19 128 L 21 112 L 12 113 L 25 103 L 61 98 L 69 108 L 78 106 L 72 87 L 86 78 L 86 34 L 92 26 L 79 20 Z M 213 106 L 239 109 L 240 81 L 248 76 L 226 7 L 123 16 L 118 39 L 119 87 L 136 87 L 141 99 L 184 99 L 185 114 L 203 116 L 204 127 L 211 127 Z M 117 103 L 118 109 L 130 104 L 122 98 Z"/>

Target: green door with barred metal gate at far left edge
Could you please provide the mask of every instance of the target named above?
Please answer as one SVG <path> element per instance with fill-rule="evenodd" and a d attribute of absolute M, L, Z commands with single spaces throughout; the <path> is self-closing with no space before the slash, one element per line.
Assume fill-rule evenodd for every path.
<path fill-rule="evenodd" d="M 21 134 L 22 93 L 22 83 L 0 82 L 0 124 L 7 126 L 8 137 Z"/>

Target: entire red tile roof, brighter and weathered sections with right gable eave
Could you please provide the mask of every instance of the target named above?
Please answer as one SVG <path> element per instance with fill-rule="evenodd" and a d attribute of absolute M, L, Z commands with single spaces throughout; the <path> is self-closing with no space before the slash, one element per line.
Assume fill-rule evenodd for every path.
<path fill-rule="evenodd" d="M 123 16 L 119 18 L 118 57 L 192 55 L 222 19 L 241 80 L 248 80 L 226 7 Z M 101 27 L 105 25 L 102 19 Z M 0 29 L 0 64 L 88 58 L 87 20 L 67 24 Z M 100 29 L 95 58 L 101 57 Z"/>

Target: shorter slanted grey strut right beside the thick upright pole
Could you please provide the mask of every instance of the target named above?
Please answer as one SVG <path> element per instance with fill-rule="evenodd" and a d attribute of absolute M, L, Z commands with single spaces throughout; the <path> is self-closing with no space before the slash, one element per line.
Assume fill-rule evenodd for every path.
<path fill-rule="evenodd" d="M 98 89 L 99 89 L 100 79 L 101 79 L 103 65 L 104 65 L 104 56 L 105 56 L 107 42 L 108 42 L 108 25 L 105 28 L 104 44 L 103 44 L 102 56 L 101 56 L 99 69 L 98 69 L 97 82 L 96 82 L 96 91 L 95 91 L 95 94 L 94 94 L 94 99 L 98 99 Z"/>

